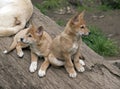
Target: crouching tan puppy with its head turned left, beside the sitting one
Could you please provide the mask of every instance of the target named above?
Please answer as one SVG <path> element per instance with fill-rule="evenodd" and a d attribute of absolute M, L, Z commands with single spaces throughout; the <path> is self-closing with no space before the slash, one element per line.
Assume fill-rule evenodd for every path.
<path fill-rule="evenodd" d="M 38 75 L 40 77 L 45 76 L 46 69 L 49 66 L 49 60 L 51 56 L 54 57 L 50 53 L 50 44 L 52 42 L 51 37 L 49 34 L 45 31 L 43 31 L 43 27 L 40 26 L 38 29 L 34 27 L 34 25 L 30 25 L 28 28 L 21 30 L 18 32 L 13 42 L 8 50 L 5 50 L 4 53 L 9 53 L 13 49 L 16 48 L 17 55 L 19 57 L 23 57 L 24 53 L 22 51 L 22 48 L 25 48 L 27 46 L 30 46 L 31 49 L 31 65 L 30 65 L 30 72 L 35 72 L 37 69 L 37 58 L 38 56 L 43 56 L 45 58 L 44 63 L 41 65 L 41 68 L 39 70 Z M 55 59 L 50 60 L 51 64 L 56 66 L 62 66 L 64 65 L 64 62 L 58 61 Z"/>

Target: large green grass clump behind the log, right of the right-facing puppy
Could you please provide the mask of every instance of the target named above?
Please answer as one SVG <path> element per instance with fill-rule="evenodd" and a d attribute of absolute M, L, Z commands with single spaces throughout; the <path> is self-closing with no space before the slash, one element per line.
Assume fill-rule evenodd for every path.
<path fill-rule="evenodd" d="M 102 56 L 117 56 L 119 47 L 116 42 L 108 39 L 99 28 L 89 26 L 91 35 L 83 37 L 83 41 L 92 48 L 95 52 Z"/>

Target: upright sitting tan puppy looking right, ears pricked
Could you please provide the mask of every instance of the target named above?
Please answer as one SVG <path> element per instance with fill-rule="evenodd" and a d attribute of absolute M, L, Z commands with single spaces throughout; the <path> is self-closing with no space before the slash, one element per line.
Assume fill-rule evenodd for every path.
<path fill-rule="evenodd" d="M 58 60 L 65 61 L 64 66 L 70 77 L 77 76 L 74 66 L 78 72 L 83 72 L 85 70 L 83 67 L 84 62 L 79 61 L 79 57 L 81 57 L 81 36 L 89 34 L 83 16 L 84 11 L 71 18 L 64 31 L 53 39 L 51 44 L 51 52 Z M 52 57 L 50 59 L 52 59 Z"/>

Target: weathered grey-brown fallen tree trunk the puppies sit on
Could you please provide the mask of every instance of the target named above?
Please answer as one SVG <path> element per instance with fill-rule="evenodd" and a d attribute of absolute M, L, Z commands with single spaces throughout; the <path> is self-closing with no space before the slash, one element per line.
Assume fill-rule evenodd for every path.
<path fill-rule="evenodd" d="M 45 30 L 55 37 L 63 28 L 36 8 L 32 20 L 36 26 L 43 25 Z M 16 51 L 8 55 L 2 53 L 10 46 L 12 37 L 0 38 L 0 89 L 120 89 L 120 70 L 105 61 L 84 43 L 82 53 L 85 58 L 86 71 L 78 73 L 77 78 L 69 78 L 64 68 L 49 67 L 47 75 L 39 78 L 36 71 L 28 71 L 30 52 L 24 50 L 25 56 L 18 58 Z M 39 60 L 38 68 L 43 60 Z"/>

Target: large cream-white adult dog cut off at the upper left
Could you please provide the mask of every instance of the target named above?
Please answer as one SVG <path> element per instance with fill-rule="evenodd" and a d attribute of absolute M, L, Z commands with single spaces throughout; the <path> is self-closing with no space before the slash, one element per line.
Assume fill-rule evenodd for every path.
<path fill-rule="evenodd" d="M 0 0 L 0 36 L 23 29 L 33 13 L 31 0 Z"/>

